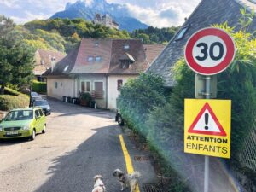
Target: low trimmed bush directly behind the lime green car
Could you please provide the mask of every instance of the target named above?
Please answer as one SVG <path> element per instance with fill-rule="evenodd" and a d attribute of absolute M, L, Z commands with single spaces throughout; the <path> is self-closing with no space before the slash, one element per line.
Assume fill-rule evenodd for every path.
<path fill-rule="evenodd" d="M 19 96 L 0 96 L 0 110 L 9 111 L 14 108 L 26 108 L 29 105 L 29 97 L 23 94 Z"/>

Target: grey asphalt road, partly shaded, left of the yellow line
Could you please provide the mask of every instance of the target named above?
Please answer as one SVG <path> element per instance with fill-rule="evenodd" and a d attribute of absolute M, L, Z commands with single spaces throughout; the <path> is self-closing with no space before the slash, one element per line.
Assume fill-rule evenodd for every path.
<path fill-rule="evenodd" d="M 45 134 L 0 143 L 0 192 L 90 192 L 96 174 L 102 174 L 107 191 L 120 191 L 113 170 L 126 168 L 114 113 L 49 103 Z M 131 154 L 140 153 L 128 146 Z"/>

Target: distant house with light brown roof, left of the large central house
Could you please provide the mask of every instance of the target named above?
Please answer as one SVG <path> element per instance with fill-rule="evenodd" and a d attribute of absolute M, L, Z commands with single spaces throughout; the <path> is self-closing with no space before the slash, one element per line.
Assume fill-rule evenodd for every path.
<path fill-rule="evenodd" d="M 55 62 L 61 61 L 66 54 L 55 50 L 38 49 L 35 53 L 35 67 L 33 73 L 38 81 L 45 81 L 42 74 Z"/>

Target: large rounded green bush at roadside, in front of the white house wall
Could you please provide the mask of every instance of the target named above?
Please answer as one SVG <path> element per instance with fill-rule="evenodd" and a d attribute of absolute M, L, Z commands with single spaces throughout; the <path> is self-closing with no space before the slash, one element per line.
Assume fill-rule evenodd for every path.
<path fill-rule="evenodd" d="M 148 128 L 145 122 L 148 113 L 154 107 L 166 103 L 164 81 L 153 74 L 141 74 L 137 79 L 130 79 L 122 87 L 118 98 L 118 108 L 126 124 L 147 137 Z"/>

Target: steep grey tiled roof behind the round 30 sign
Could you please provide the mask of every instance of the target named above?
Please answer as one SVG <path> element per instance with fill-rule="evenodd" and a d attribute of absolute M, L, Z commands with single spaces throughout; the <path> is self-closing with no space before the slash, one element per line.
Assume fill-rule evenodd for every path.
<path fill-rule="evenodd" d="M 240 9 L 243 3 L 248 5 L 246 0 L 202 0 L 183 24 L 183 26 L 190 26 L 183 38 L 176 41 L 177 35 L 174 36 L 147 72 L 162 76 L 168 87 L 175 85 L 172 67 L 178 59 L 183 57 L 184 46 L 189 37 L 201 28 L 212 26 L 212 24 L 221 24 L 225 21 L 229 26 L 234 26 L 238 30 L 238 20 L 241 18 Z M 253 25 L 249 29 L 251 32 L 256 29 L 256 20 L 253 20 Z"/>

